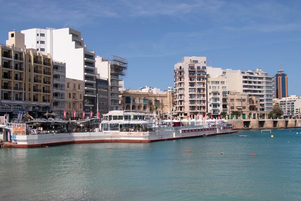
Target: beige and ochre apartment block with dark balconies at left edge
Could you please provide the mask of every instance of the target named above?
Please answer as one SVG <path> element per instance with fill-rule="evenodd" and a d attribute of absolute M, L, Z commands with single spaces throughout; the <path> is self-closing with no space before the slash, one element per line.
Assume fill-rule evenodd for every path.
<path fill-rule="evenodd" d="M 16 31 L 1 45 L 1 111 L 10 118 L 20 118 L 20 110 L 35 118 L 51 110 L 51 56 L 24 48 L 24 34 Z"/>

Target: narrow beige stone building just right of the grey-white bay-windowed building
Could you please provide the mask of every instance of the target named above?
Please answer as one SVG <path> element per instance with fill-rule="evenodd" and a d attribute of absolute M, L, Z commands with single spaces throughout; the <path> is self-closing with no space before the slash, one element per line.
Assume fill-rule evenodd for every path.
<path fill-rule="evenodd" d="M 80 118 L 91 118 L 91 111 L 83 110 L 83 84 L 82 80 L 66 78 L 66 120 L 75 120 Z M 89 104 L 89 103 L 86 103 Z M 93 113 L 93 112 L 92 112 Z"/>

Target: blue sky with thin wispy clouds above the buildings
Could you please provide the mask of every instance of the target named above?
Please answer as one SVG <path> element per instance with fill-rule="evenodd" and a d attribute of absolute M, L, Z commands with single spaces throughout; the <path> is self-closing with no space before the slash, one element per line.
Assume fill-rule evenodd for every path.
<path fill-rule="evenodd" d="M 270 75 L 281 63 L 288 94 L 301 96 L 301 1 L 0 0 L 0 8 L 0 43 L 13 29 L 69 23 L 96 55 L 128 59 L 125 88 L 166 90 L 182 57 L 206 56 L 216 68 Z"/>

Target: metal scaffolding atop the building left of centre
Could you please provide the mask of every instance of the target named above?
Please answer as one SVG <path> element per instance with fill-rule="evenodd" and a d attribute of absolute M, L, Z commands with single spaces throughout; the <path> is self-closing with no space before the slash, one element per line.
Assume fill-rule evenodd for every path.
<path fill-rule="evenodd" d="M 119 56 L 112 55 L 110 59 L 111 75 L 123 77 L 128 69 L 128 60 Z"/>

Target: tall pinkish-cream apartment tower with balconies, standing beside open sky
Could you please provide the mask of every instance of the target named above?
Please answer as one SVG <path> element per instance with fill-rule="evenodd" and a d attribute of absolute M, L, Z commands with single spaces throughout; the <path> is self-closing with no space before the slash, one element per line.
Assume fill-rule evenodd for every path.
<path fill-rule="evenodd" d="M 206 57 L 183 57 L 174 66 L 175 112 L 180 119 L 206 115 Z"/>

